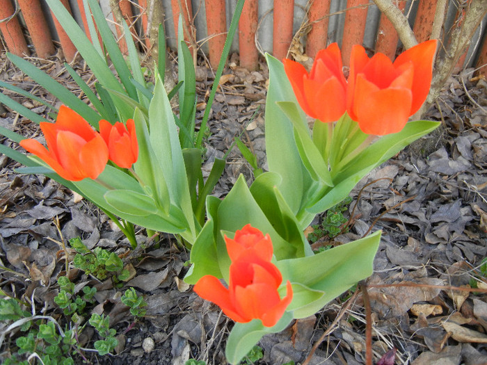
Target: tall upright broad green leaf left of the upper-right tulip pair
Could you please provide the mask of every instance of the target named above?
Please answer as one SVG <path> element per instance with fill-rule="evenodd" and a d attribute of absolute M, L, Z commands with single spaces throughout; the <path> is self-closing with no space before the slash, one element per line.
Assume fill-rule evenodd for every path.
<path fill-rule="evenodd" d="M 293 124 L 277 105 L 277 102 L 296 102 L 296 97 L 282 63 L 269 54 L 266 55 L 266 60 L 269 65 L 269 91 L 265 112 L 267 162 L 269 171 L 286 177 L 282 181 L 280 191 L 296 214 L 305 199 L 311 179 L 296 147 Z M 300 114 L 305 124 L 306 117 L 301 111 Z"/>

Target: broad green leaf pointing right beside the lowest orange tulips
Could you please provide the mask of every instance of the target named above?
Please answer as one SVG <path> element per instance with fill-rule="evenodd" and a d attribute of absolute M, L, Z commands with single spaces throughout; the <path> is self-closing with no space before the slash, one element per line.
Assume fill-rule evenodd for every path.
<path fill-rule="evenodd" d="M 299 302 L 299 308 L 294 309 L 294 318 L 305 318 L 316 313 L 330 300 L 372 275 L 380 241 L 381 232 L 378 231 L 314 256 L 277 261 L 276 266 L 282 273 L 283 282 L 289 280 L 292 284 L 307 286 L 312 291 L 324 292 L 319 300 L 304 307 L 303 302 Z M 293 303 L 289 307 L 294 307 Z"/>

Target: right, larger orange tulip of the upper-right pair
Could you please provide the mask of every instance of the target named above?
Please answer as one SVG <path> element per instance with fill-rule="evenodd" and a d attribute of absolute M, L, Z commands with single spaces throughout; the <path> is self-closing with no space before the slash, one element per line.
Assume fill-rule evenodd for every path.
<path fill-rule="evenodd" d="M 369 58 L 362 46 L 351 51 L 347 111 L 364 133 L 401 131 L 428 95 L 436 40 L 417 44 L 394 63 L 384 54 Z"/>

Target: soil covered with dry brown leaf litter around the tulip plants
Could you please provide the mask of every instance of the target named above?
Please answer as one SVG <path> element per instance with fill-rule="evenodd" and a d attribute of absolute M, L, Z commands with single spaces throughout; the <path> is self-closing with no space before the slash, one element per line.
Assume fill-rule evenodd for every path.
<path fill-rule="evenodd" d="M 81 95 L 59 60 L 31 62 Z M 262 61 L 259 72 L 248 72 L 237 66 L 237 56 L 229 65 L 209 119 L 206 174 L 240 133 L 266 170 L 266 65 Z M 4 56 L 0 66 L 3 81 L 60 104 Z M 82 61 L 74 66 L 93 83 Z M 213 76 L 205 65 L 198 66 L 197 75 L 197 120 L 201 120 Z M 3 93 L 35 113 L 49 111 L 8 90 Z M 475 78 L 472 70 L 452 76 L 436 106 L 423 118 L 441 120 L 442 127 L 360 181 L 345 212 L 349 232 L 318 240 L 319 245 L 343 244 L 382 229 L 374 275 L 315 316 L 292 323 L 280 334 L 264 336 L 260 341 L 264 356 L 255 364 L 301 364 L 307 357 L 308 364 L 365 364 L 367 352 L 372 352 L 374 364 L 487 363 L 487 267 L 481 266 L 487 256 L 486 109 L 485 80 Z M 38 136 L 38 127 L 29 120 L 8 108 L 0 112 L 2 127 L 26 137 Z M 0 142 L 15 145 L 6 138 Z M 238 149 L 232 149 L 227 161 L 213 193 L 217 197 L 225 196 L 240 174 L 252 181 L 252 168 Z M 61 242 L 80 236 L 90 249 L 101 247 L 125 257 L 132 277 L 122 291 L 133 286 L 147 302 L 145 316 L 135 319 L 120 302 L 122 291 L 114 289 L 110 279 L 100 282 L 71 267 L 72 282 L 97 287 L 96 306 L 90 311 L 110 316 L 119 342 L 115 355 L 84 350 L 86 359 L 92 364 L 185 364 L 191 358 L 226 363 L 225 338 L 232 323 L 182 282 L 189 259 L 186 250 L 170 236 L 148 238 L 140 229 L 139 248 L 129 252 L 127 239 L 93 204 L 41 175 L 19 175 L 20 167 L 0 156 L 0 289 L 4 293 L 31 303 L 36 313 L 53 316 L 64 325 L 54 296 L 57 278 L 65 275 L 65 252 L 72 252 L 63 250 Z M 314 224 L 320 222 L 317 217 Z M 472 286 L 479 289 L 470 291 Z M 344 311 L 351 295 L 353 304 Z M 336 318 L 341 319 L 330 328 Z M 0 323 L 0 332 L 8 324 Z M 366 346 L 367 326 L 372 327 L 372 347 Z M 325 339 L 320 339 L 327 330 Z M 0 343 L 0 358 L 16 352 L 18 336 L 19 332 L 8 332 Z M 83 336 L 82 347 L 93 348 L 97 340 L 93 329 L 86 327 Z M 392 352 L 392 357 L 385 356 L 390 350 L 395 357 Z M 81 357 L 75 359 L 76 364 L 82 363 Z"/>

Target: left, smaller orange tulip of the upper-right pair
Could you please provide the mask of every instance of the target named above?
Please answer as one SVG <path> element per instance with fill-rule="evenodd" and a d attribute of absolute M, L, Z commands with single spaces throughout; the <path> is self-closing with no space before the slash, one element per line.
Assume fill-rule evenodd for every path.
<path fill-rule="evenodd" d="M 340 119 L 346 110 L 346 80 L 338 44 L 330 44 L 318 52 L 309 74 L 300 63 L 288 59 L 282 62 L 296 99 L 306 114 L 321 122 Z"/>

